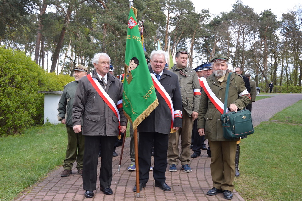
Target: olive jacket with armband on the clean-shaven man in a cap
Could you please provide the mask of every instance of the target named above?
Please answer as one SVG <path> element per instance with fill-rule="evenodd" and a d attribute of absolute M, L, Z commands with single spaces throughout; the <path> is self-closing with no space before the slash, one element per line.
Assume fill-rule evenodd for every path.
<path fill-rule="evenodd" d="M 188 67 L 180 70 L 176 67 L 176 64 L 169 71 L 178 76 L 180 91 L 182 94 L 182 107 L 191 117 L 193 111 L 198 112 L 200 102 L 200 94 L 197 93 L 194 95 L 195 89 L 200 90 L 196 71 Z M 184 75 L 182 75 L 180 71 L 182 71 Z"/>

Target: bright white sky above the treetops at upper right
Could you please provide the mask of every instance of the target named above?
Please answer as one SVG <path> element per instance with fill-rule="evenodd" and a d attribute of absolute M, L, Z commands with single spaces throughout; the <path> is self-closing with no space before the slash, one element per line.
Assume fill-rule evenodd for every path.
<path fill-rule="evenodd" d="M 232 4 L 236 0 L 191 0 L 195 6 L 195 11 L 200 12 L 202 9 L 209 9 L 210 14 L 218 15 L 220 12 L 232 11 Z M 215 4 L 213 3 L 215 2 Z M 243 5 L 248 5 L 254 9 L 255 13 L 260 14 L 264 10 L 271 9 L 272 13 L 277 15 L 277 20 L 280 20 L 282 13 L 287 13 L 288 10 L 295 10 L 298 5 L 301 6 L 301 0 L 285 0 L 285 1 L 272 1 L 272 0 L 241 0 Z M 302 6 L 301 6 L 302 8 Z"/>

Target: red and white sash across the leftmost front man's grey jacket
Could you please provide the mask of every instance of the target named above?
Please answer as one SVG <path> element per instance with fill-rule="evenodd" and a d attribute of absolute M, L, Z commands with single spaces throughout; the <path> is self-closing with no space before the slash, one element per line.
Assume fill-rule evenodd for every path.
<path fill-rule="evenodd" d="M 115 105 L 112 98 L 108 95 L 108 93 L 103 89 L 101 84 L 98 82 L 98 80 L 94 77 L 91 77 L 90 74 L 86 75 L 90 83 L 92 84 L 92 87 L 98 92 L 100 97 L 103 99 L 103 101 L 109 106 L 109 108 L 114 112 L 115 116 L 119 120 L 119 135 L 120 135 L 120 113 L 118 108 L 123 107 L 123 100 L 119 100 L 117 102 L 117 106 Z"/>

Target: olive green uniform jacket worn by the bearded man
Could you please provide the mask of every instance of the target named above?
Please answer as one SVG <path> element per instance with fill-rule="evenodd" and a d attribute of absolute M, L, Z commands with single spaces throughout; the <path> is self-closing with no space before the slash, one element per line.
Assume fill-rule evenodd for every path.
<path fill-rule="evenodd" d="M 226 80 L 228 75 L 229 73 L 226 73 L 224 81 L 221 83 L 221 85 L 219 84 L 219 81 L 214 73 L 207 78 L 210 89 L 222 103 L 224 103 Z M 244 109 L 250 100 L 249 96 L 246 95 L 238 97 L 238 95 L 244 90 L 246 90 L 246 88 L 241 75 L 232 73 L 230 78 L 227 107 L 233 103 L 238 107 L 238 110 Z M 197 128 L 204 128 L 205 138 L 210 141 L 232 141 L 223 137 L 221 113 L 215 108 L 214 104 L 210 101 L 204 90 L 201 92 Z"/>

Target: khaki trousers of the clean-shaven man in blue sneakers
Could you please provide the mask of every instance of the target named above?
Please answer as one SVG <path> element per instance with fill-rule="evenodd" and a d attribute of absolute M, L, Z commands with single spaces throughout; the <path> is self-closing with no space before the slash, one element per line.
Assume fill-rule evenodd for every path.
<path fill-rule="evenodd" d="M 175 133 L 169 134 L 169 143 L 168 143 L 168 162 L 169 165 L 175 164 L 178 165 L 178 159 L 181 161 L 181 165 L 190 164 L 190 146 L 191 146 L 191 137 L 192 137 L 192 128 L 193 120 L 192 117 L 184 111 L 182 113 L 182 128 L 180 128 Z M 179 153 L 178 142 L 179 137 L 181 137 L 181 147 L 182 150 Z"/>

